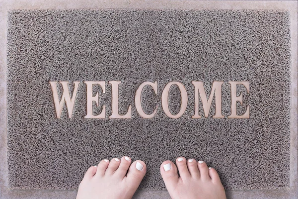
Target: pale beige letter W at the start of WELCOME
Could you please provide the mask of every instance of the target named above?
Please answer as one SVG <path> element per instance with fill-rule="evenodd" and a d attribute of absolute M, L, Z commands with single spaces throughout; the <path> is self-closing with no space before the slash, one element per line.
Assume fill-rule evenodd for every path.
<path fill-rule="evenodd" d="M 62 94 L 62 97 L 61 97 L 60 101 L 58 99 L 57 83 L 58 82 L 50 82 L 51 87 L 52 87 L 52 92 L 53 92 L 53 98 L 54 98 L 57 118 L 61 117 L 61 112 L 62 112 L 62 108 L 63 108 L 63 105 L 64 105 L 64 101 L 66 102 L 69 117 L 72 118 L 73 109 L 74 109 L 74 101 L 75 101 L 75 98 L 76 98 L 76 92 L 77 92 L 79 82 L 74 82 L 74 94 L 73 94 L 73 98 L 71 99 L 70 92 L 69 92 L 69 89 L 68 89 L 68 83 L 69 82 L 59 81 L 59 83 L 61 83 L 62 87 L 63 87 L 63 94 Z"/>

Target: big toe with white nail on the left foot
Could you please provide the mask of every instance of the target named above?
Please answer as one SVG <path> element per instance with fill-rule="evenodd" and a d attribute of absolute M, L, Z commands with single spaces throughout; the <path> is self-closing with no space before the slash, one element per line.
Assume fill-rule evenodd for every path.
<path fill-rule="evenodd" d="M 128 173 L 124 178 L 131 190 L 136 191 L 138 189 L 146 174 L 146 170 L 146 164 L 141 160 L 137 160 L 131 164 Z"/>

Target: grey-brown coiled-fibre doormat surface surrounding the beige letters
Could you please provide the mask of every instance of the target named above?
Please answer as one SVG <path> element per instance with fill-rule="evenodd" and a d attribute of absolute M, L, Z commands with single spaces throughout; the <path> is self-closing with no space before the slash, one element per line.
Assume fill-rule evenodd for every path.
<path fill-rule="evenodd" d="M 206 161 L 219 172 L 226 189 L 287 189 L 290 68 L 288 11 L 11 10 L 9 187 L 76 189 L 89 166 L 128 155 L 147 164 L 140 189 L 165 189 L 159 166 L 178 156 Z M 51 81 L 70 81 L 70 97 L 74 82 L 80 82 L 72 118 L 65 104 L 57 117 Z M 93 115 L 106 105 L 105 119 L 85 118 L 84 81 L 105 81 L 104 94 L 98 84 L 93 86 L 99 106 L 91 102 Z M 109 118 L 109 81 L 122 81 L 119 114 L 126 114 L 131 105 L 131 118 Z M 141 103 L 145 114 L 156 105 L 157 111 L 143 118 L 136 109 L 136 91 L 142 83 L 155 81 L 156 95 L 145 86 Z M 205 100 L 216 81 L 224 82 L 217 87 L 222 88 L 221 98 L 215 90 L 210 112 L 203 110 L 204 97 L 197 99 L 196 114 L 202 118 L 192 118 L 199 96 L 192 81 L 203 82 Z M 187 93 L 186 110 L 179 118 L 169 117 L 161 103 L 170 82 L 181 83 Z M 249 82 L 249 88 L 228 82 Z M 60 99 L 62 85 L 56 86 Z M 237 96 L 242 93 L 242 105 L 233 105 L 235 89 Z M 181 97 L 179 87 L 171 86 L 170 114 L 179 113 Z M 219 115 L 224 118 L 213 118 L 219 108 L 216 99 L 222 100 Z M 231 106 L 237 115 L 249 106 L 249 118 L 228 118 Z"/>

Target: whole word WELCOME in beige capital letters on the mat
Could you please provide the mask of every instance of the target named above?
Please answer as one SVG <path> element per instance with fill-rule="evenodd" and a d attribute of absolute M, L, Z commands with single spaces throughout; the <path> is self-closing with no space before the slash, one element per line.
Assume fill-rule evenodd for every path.
<path fill-rule="evenodd" d="M 57 81 L 51 81 L 50 85 L 52 87 L 52 92 L 53 92 L 53 98 L 54 98 L 54 103 L 55 103 L 55 108 L 56 108 L 56 114 L 57 118 L 61 117 L 61 112 L 62 108 L 64 106 L 64 103 L 66 103 L 67 109 L 68 109 L 68 114 L 69 117 L 71 118 L 73 115 L 73 109 L 74 109 L 74 101 L 76 98 L 76 93 L 78 86 L 80 82 L 74 82 L 74 93 L 73 97 L 71 99 L 70 97 L 70 92 L 68 89 L 68 83 L 67 81 L 59 81 L 60 84 L 62 84 L 63 87 L 63 94 L 61 97 L 61 100 L 59 101 L 58 99 L 58 92 L 57 92 Z M 132 106 L 129 105 L 128 111 L 124 115 L 119 115 L 119 109 L 118 109 L 118 88 L 119 84 L 121 84 L 121 81 L 109 81 L 109 84 L 112 85 L 112 115 L 109 116 L 109 118 L 131 118 L 131 109 Z M 215 96 L 215 115 L 213 115 L 213 118 L 224 118 L 224 115 L 222 115 L 222 85 L 224 82 L 219 82 L 219 81 L 214 81 L 212 84 L 212 89 L 211 89 L 211 94 L 209 96 L 209 99 L 206 97 L 206 92 L 203 86 L 203 82 L 201 81 L 192 81 L 191 82 L 194 87 L 195 87 L 195 114 L 192 115 L 191 118 L 202 118 L 201 115 L 199 115 L 199 95 L 201 98 L 201 102 L 203 105 L 203 110 L 204 110 L 204 115 L 205 117 L 208 117 L 209 112 L 210 112 L 210 107 L 212 104 L 212 100 Z M 246 111 L 243 115 L 237 115 L 236 114 L 236 103 L 239 101 L 242 105 L 242 93 L 240 96 L 237 97 L 236 95 L 236 86 L 237 85 L 244 85 L 244 87 L 247 90 L 247 93 L 249 93 L 249 82 L 228 82 L 231 85 L 231 114 L 228 116 L 228 118 L 249 118 L 249 105 L 247 105 Z M 102 89 L 102 93 L 105 93 L 105 81 L 84 81 L 84 84 L 87 85 L 87 114 L 84 116 L 84 118 L 106 118 L 106 106 L 102 106 L 102 111 L 98 115 L 93 115 L 93 110 L 92 110 L 92 102 L 95 101 L 97 106 L 98 104 L 98 92 L 96 93 L 95 96 L 92 95 L 92 86 L 93 85 L 99 85 Z M 151 114 L 146 114 L 143 111 L 142 105 L 141 105 L 141 94 L 142 90 L 145 86 L 151 86 L 154 90 L 154 93 L 157 94 L 157 82 L 144 82 L 142 83 L 138 90 L 136 91 L 135 95 L 135 105 L 136 109 L 139 113 L 139 115 L 143 118 L 152 118 L 156 112 L 158 105 L 156 105 L 154 111 Z M 180 111 L 178 114 L 173 115 L 168 106 L 168 95 L 169 95 L 169 90 L 172 85 L 177 85 L 179 87 L 180 93 L 181 93 L 181 106 L 180 106 Z M 162 95 L 161 95 L 161 105 L 162 109 L 165 112 L 167 116 L 170 118 L 179 118 L 183 115 L 183 113 L 186 110 L 187 106 L 187 92 L 185 87 L 180 83 L 180 82 L 169 82 L 163 89 Z"/>

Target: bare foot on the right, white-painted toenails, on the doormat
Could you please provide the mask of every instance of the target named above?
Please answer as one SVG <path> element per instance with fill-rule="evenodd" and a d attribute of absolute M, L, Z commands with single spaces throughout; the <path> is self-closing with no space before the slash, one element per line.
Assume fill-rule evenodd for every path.
<path fill-rule="evenodd" d="M 203 161 L 194 159 L 186 162 L 184 157 L 176 159 L 177 167 L 172 161 L 164 161 L 160 173 L 172 199 L 226 199 L 224 187 L 218 173 L 208 168 Z"/>

